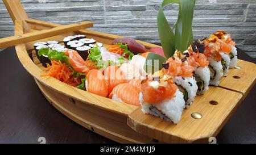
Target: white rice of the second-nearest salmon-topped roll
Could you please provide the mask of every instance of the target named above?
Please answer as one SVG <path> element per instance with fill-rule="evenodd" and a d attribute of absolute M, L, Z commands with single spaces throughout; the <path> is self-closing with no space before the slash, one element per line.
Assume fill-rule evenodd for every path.
<path fill-rule="evenodd" d="M 176 85 L 182 86 L 188 92 L 186 108 L 188 108 L 196 97 L 197 85 L 195 77 L 174 77 L 173 81 Z"/>

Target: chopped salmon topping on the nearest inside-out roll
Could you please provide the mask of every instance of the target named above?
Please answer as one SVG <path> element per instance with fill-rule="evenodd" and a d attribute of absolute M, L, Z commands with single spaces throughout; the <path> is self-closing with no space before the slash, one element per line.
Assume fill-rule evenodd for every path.
<path fill-rule="evenodd" d="M 177 86 L 171 79 L 165 82 L 166 85 L 163 86 L 158 81 L 150 81 L 148 79 L 142 81 L 141 90 L 144 103 L 158 104 L 163 100 L 175 97 Z"/>

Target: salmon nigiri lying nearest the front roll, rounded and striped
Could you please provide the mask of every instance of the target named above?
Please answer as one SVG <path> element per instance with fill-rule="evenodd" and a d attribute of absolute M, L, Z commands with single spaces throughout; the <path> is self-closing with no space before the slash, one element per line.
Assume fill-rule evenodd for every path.
<path fill-rule="evenodd" d="M 139 91 L 130 83 L 121 83 L 114 87 L 109 95 L 109 98 L 118 100 L 134 106 L 139 106 Z"/>

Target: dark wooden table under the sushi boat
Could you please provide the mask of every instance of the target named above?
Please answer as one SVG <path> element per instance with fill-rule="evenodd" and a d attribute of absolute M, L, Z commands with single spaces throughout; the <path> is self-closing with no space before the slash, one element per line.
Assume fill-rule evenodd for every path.
<path fill-rule="evenodd" d="M 244 52 L 239 58 L 255 63 Z M 0 143 L 115 143 L 76 124 L 43 97 L 15 48 L 0 52 Z M 256 87 L 217 136 L 217 143 L 256 143 Z"/>

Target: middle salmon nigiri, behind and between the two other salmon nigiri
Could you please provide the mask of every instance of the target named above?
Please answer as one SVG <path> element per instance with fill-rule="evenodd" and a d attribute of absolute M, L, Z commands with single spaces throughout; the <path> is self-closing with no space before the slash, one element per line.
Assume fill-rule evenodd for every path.
<path fill-rule="evenodd" d="M 123 76 L 122 70 L 118 66 L 108 66 L 105 70 L 106 81 L 108 81 L 108 92 L 114 89 L 115 86 L 120 83 L 126 83 L 126 79 Z"/>

